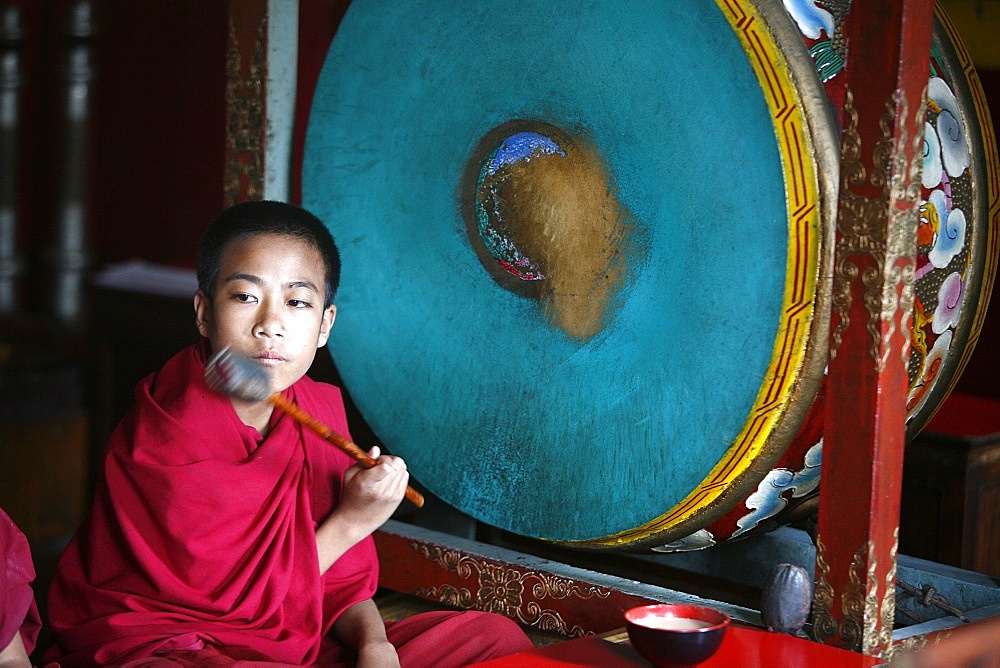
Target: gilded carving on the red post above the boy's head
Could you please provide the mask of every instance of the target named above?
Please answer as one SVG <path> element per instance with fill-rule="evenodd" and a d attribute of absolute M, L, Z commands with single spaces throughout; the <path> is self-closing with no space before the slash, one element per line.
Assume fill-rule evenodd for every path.
<path fill-rule="evenodd" d="M 264 55 L 266 16 L 257 26 L 253 56 L 244 75 L 239 37 L 229 19 L 229 50 L 226 54 L 226 204 L 258 200 L 264 196 Z"/>

